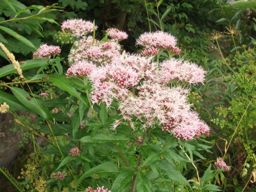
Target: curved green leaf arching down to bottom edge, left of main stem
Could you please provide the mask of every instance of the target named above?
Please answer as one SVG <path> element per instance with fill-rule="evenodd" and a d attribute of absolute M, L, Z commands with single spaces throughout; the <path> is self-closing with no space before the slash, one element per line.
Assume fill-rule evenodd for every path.
<path fill-rule="evenodd" d="M 118 173 L 117 166 L 112 162 L 106 162 L 101 165 L 94 166 L 93 168 L 87 170 L 77 181 L 75 191 L 77 191 L 78 185 L 83 181 L 84 178 L 87 178 L 93 174 L 98 174 L 100 177 L 108 177 L 115 173 Z"/>

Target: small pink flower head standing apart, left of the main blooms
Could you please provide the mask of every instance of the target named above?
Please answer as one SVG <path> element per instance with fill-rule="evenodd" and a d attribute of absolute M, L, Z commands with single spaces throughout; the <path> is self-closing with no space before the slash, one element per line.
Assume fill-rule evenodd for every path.
<path fill-rule="evenodd" d="M 60 48 L 59 46 L 48 46 L 47 44 L 41 45 L 36 52 L 33 53 L 33 58 L 47 59 L 51 55 L 59 55 Z"/>

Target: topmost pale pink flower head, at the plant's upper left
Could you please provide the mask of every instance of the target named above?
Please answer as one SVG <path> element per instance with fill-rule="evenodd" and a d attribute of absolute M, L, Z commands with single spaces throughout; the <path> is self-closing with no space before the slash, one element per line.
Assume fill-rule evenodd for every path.
<path fill-rule="evenodd" d="M 95 29 L 98 27 L 95 26 Z M 76 37 L 93 32 L 93 23 L 83 19 L 68 19 L 61 24 L 62 31 L 69 30 Z"/>

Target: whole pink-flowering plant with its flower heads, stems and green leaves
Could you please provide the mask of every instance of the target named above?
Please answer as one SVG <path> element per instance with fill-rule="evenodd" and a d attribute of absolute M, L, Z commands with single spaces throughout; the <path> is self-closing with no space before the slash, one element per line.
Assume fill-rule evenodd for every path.
<path fill-rule="evenodd" d="M 37 153 L 48 165 L 35 165 L 30 179 L 44 180 L 45 191 L 218 191 L 214 173 L 229 168 L 218 159 L 216 171 L 209 165 L 202 173 L 210 127 L 187 101 L 206 71 L 179 58 L 178 40 L 167 32 L 141 34 L 142 51 L 134 54 L 119 44 L 125 32 L 111 28 L 98 40 L 96 29 L 82 19 L 63 22 L 75 39 L 68 58 L 58 46 L 40 46 L 25 62 L 37 67 L 35 76 L 24 74 L 29 89 L 6 84 L 14 96 L 1 93 L 14 115 L 22 109 L 41 122 L 35 130 L 15 116 L 46 143 Z M 45 73 L 48 65 L 53 74 Z M 29 84 L 42 82 L 49 90 L 32 93 Z"/>

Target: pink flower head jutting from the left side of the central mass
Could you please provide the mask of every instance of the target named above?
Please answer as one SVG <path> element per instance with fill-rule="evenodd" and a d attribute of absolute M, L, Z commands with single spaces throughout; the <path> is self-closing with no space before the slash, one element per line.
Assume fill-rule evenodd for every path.
<path fill-rule="evenodd" d="M 96 69 L 97 69 L 96 66 L 92 62 L 78 61 L 68 69 L 66 76 L 67 77 L 70 77 L 72 75 L 76 77 L 88 76 L 92 71 Z"/>

